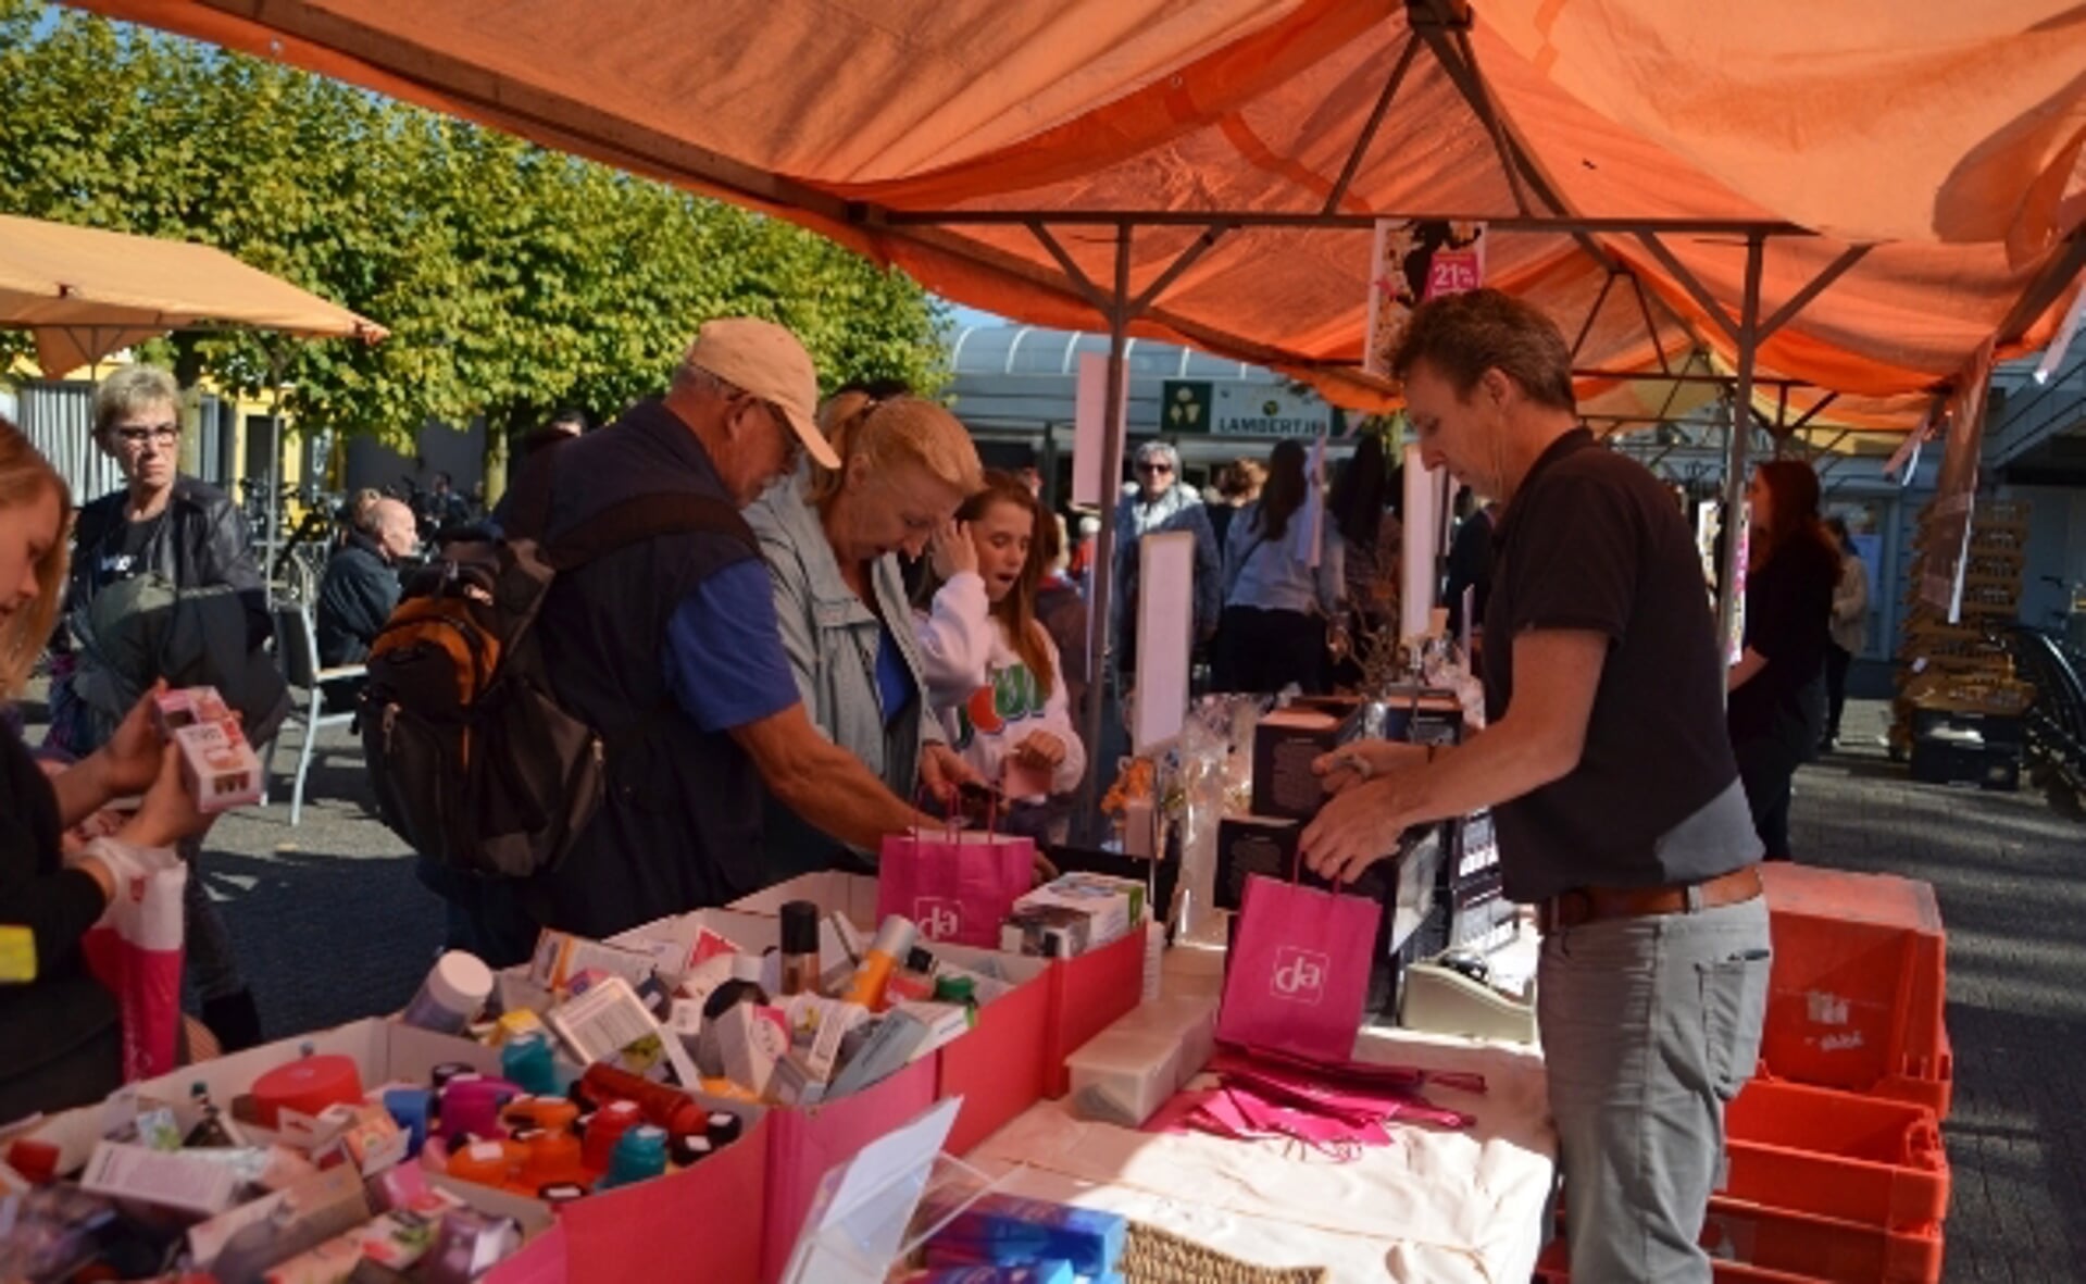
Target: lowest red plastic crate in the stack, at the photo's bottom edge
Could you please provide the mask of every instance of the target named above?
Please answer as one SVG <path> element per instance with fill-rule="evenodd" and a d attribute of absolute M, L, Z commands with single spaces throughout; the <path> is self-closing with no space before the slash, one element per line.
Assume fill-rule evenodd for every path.
<path fill-rule="evenodd" d="M 1713 1196 L 1702 1246 L 1719 1261 L 1832 1284 L 1938 1284 L 1942 1228 L 1882 1228 Z"/>

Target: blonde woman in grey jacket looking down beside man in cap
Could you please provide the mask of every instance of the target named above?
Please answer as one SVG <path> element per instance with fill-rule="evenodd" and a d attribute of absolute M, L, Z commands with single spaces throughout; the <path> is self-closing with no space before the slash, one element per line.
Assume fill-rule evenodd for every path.
<path fill-rule="evenodd" d="M 841 466 L 805 459 L 747 509 L 774 580 L 797 691 L 811 722 L 893 793 L 918 798 L 924 789 L 949 802 L 974 772 L 926 708 L 899 553 L 918 557 L 978 489 L 978 451 L 955 415 L 920 397 L 843 393 L 820 409 L 820 428 Z M 824 869 L 843 852 L 770 804 L 776 877 Z"/>

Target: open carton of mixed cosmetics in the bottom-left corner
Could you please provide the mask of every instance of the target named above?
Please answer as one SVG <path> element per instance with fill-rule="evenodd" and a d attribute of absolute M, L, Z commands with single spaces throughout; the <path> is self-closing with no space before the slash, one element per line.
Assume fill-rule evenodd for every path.
<path fill-rule="evenodd" d="M 534 1198 L 446 1184 L 446 1146 L 413 1102 L 438 1075 L 461 1086 L 494 1065 L 480 1044 L 371 1019 L 44 1119 L 0 1152 L 17 1175 L 33 1173 L 23 1180 L 42 1209 L 19 1203 L 10 1217 L 42 1223 L 60 1211 L 92 1234 L 42 1223 L 35 1269 L 15 1257 L 25 1240 L 4 1236 L 0 1276 L 175 1267 L 217 1284 L 307 1284 L 346 1280 L 367 1261 L 415 1284 L 482 1278 L 549 1213 Z M 438 1265 L 444 1255 L 467 1274 Z"/>

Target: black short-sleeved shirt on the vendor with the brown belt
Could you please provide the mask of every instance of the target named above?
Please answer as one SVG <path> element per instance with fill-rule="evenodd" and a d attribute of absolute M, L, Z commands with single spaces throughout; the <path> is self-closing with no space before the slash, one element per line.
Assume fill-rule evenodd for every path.
<path fill-rule="evenodd" d="M 1600 633 L 1608 660 L 1579 766 L 1494 808 L 1506 894 L 1694 883 L 1756 860 L 1694 537 L 1642 463 L 1583 428 L 1544 451 L 1500 514 L 1485 603 L 1491 720 L 1512 708 L 1512 643 L 1537 628 Z"/>

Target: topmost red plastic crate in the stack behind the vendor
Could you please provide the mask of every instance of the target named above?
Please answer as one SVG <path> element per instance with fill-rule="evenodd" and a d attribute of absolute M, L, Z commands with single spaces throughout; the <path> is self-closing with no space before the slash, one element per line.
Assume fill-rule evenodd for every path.
<path fill-rule="evenodd" d="M 1775 946 L 1767 1071 L 1850 1092 L 1925 1084 L 1915 1092 L 1944 1113 L 1946 931 L 1934 887 L 1790 862 L 1763 864 L 1761 877 Z"/>

